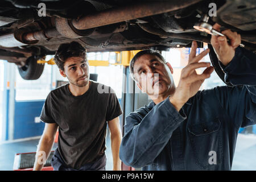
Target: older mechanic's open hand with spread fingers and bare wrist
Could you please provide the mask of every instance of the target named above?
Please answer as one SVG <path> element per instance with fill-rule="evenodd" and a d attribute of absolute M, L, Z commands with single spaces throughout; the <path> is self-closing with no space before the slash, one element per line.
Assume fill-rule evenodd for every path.
<path fill-rule="evenodd" d="M 179 85 L 177 86 L 175 93 L 169 97 L 170 102 L 174 105 L 175 109 L 179 111 L 181 107 L 191 98 L 195 96 L 200 86 L 203 84 L 206 78 L 210 77 L 213 72 L 213 67 L 210 63 L 199 61 L 207 55 L 209 49 L 201 52 L 196 56 L 197 43 L 192 42 L 191 53 L 188 59 L 188 65 L 182 69 Z M 207 67 L 201 75 L 196 73 L 197 68 Z"/>

